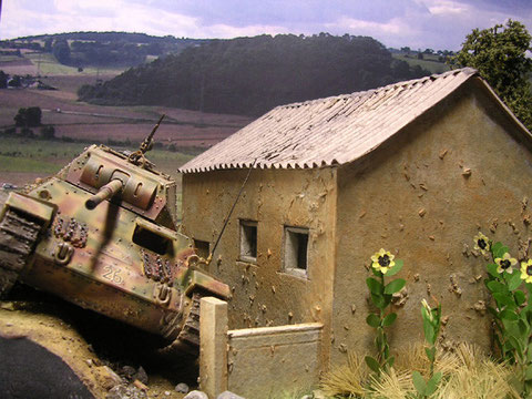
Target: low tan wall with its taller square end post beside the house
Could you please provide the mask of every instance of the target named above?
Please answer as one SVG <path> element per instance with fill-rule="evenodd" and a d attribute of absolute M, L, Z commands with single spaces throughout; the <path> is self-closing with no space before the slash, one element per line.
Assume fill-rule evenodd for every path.
<path fill-rule="evenodd" d="M 227 331 L 227 304 L 216 298 L 202 299 L 201 319 L 200 381 L 209 397 L 229 390 L 269 399 L 317 385 L 321 324 Z"/>

